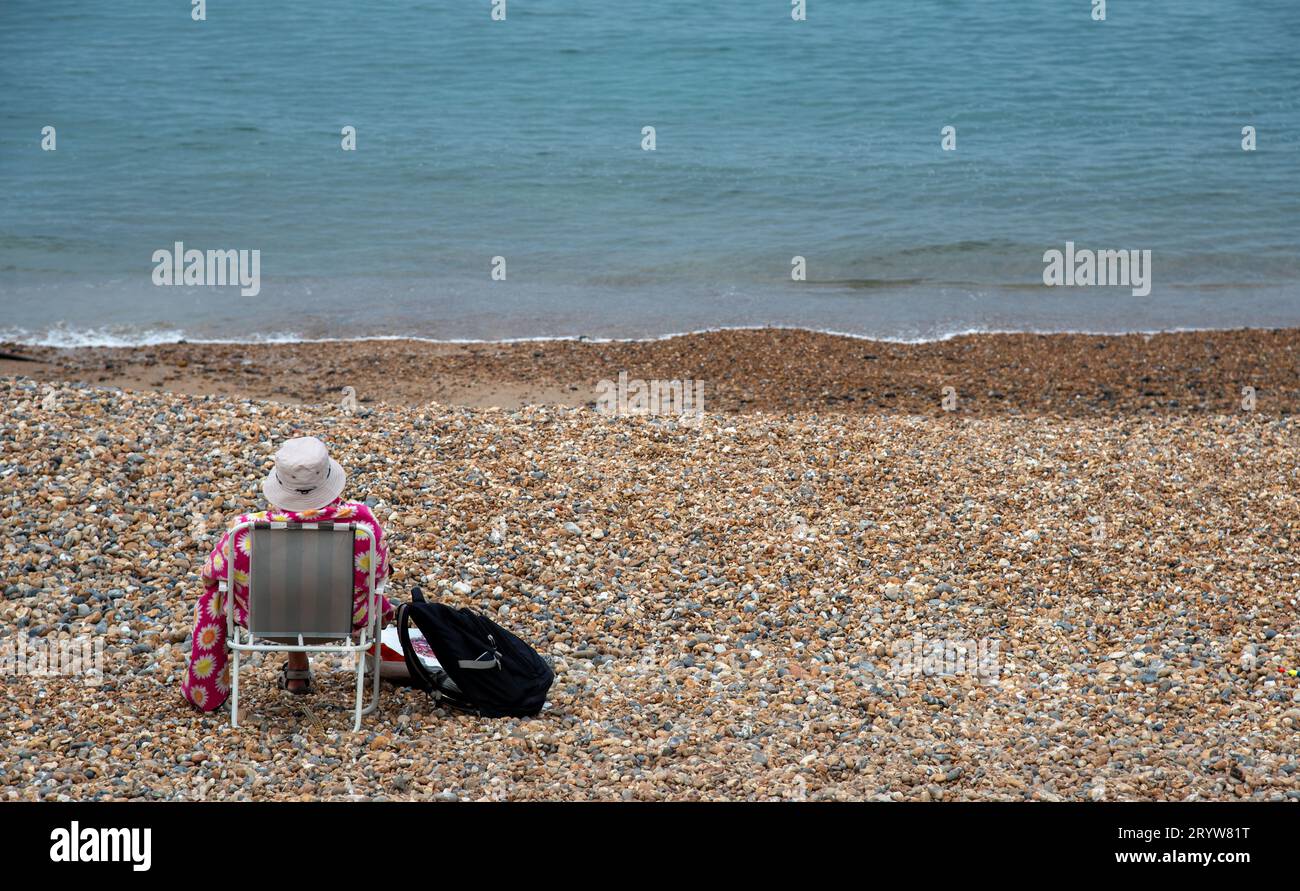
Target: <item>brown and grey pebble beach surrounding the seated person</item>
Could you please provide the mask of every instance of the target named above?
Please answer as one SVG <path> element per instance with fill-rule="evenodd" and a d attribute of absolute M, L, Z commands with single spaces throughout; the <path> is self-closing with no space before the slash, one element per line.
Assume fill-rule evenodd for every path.
<path fill-rule="evenodd" d="M 555 356 L 632 347 L 507 350 L 551 369 L 529 379 L 546 392 L 610 367 L 689 373 L 649 350 L 729 356 L 699 375 L 722 395 L 698 428 L 400 385 L 393 399 L 359 385 L 346 415 L 342 377 L 282 399 L 225 381 L 247 368 L 220 359 L 233 346 L 151 349 L 150 368 L 212 368 L 191 392 L 96 380 L 95 363 L 130 364 L 107 354 L 9 363 L 0 644 L 90 637 L 104 665 L 0 676 L 0 797 L 1300 800 L 1300 682 L 1279 671 L 1300 666 L 1295 332 L 1160 336 L 1150 380 L 1106 371 L 1122 385 L 1101 389 L 1071 381 L 1136 367 L 1140 336 L 827 347 L 822 380 L 845 386 L 841 349 L 910 369 L 893 402 L 872 389 L 854 406 L 792 395 L 842 389 L 790 382 L 818 380 L 805 334 L 766 352 L 707 337 L 585 377 Z M 376 349 L 347 362 L 382 371 L 424 347 Z M 1035 354 L 1121 358 L 1069 364 L 1049 389 L 1000 371 Z M 935 371 L 948 355 L 978 381 L 953 412 Z M 774 356 L 785 376 L 763 371 Z M 472 364 L 458 362 L 443 367 Z M 508 389 L 482 364 L 463 380 Z M 1236 406 L 1245 384 L 1257 411 Z M 318 692 L 290 697 L 281 657 L 244 672 L 239 730 L 186 705 L 203 559 L 299 434 L 330 444 L 346 494 L 389 531 L 390 596 L 473 606 L 552 662 L 541 715 L 443 713 L 385 684 L 352 732 L 352 676 L 313 662 Z M 900 648 L 915 641 L 996 645 L 980 670 L 911 671 Z"/>

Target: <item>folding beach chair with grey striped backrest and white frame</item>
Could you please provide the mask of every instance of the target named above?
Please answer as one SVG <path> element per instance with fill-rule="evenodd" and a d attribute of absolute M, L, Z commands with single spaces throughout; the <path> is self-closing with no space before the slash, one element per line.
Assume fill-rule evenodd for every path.
<path fill-rule="evenodd" d="M 370 548 L 367 581 L 368 622 L 352 631 L 352 523 L 240 523 L 230 531 L 226 566 L 234 566 L 234 542 L 247 529 L 248 628 L 240 635 L 235 624 L 234 592 L 225 581 L 221 596 L 226 605 L 226 639 L 233 650 L 230 672 L 230 726 L 239 726 L 239 656 L 242 653 L 338 653 L 356 657 L 356 715 L 354 730 L 361 728 L 361 715 L 380 704 L 380 659 L 374 662 L 374 695 L 361 708 L 365 689 L 365 650 L 380 639 L 380 589 L 374 585 L 374 536 L 365 535 Z"/>

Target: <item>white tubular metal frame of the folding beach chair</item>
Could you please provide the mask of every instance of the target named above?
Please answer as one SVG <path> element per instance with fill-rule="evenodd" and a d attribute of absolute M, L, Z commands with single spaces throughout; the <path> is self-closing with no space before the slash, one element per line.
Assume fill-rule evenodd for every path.
<path fill-rule="evenodd" d="M 230 529 L 230 535 L 226 539 L 226 579 L 221 580 L 220 592 L 221 598 L 226 607 L 226 641 L 231 650 L 233 667 L 230 671 L 230 726 L 239 727 L 239 654 L 240 653 L 335 653 L 339 656 L 355 656 L 356 657 L 356 708 L 352 721 L 352 730 L 358 731 L 361 728 L 361 715 L 370 714 L 380 705 L 380 663 L 381 658 L 374 658 L 374 685 L 370 704 L 365 708 L 364 702 L 364 689 L 365 689 L 365 653 L 370 649 L 380 637 L 381 623 L 384 617 L 380 614 L 380 600 L 384 591 L 384 583 L 380 585 L 374 584 L 374 563 L 378 553 L 374 548 L 374 535 L 368 535 L 370 545 L 370 571 L 367 580 L 367 597 L 369 600 L 369 611 L 367 613 L 367 623 L 360 631 L 354 631 L 351 637 L 344 637 L 343 641 L 338 644 L 307 644 L 303 641 L 303 635 L 298 635 L 298 644 L 281 644 L 278 641 L 272 641 L 269 644 L 259 644 L 259 639 L 252 635 L 247 628 L 243 628 L 243 636 L 240 637 L 239 631 L 242 626 L 235 623 L 235 604 L 234 604 L 234 585 L 229 584 L 229 578 L 234 572 L 234 546 L 235 537 L 240 531 L 247 529 L 248 535 L 252 535 L 254 525 L 256 522 L 248 520 L 246 523 L 239 523 Z M 282 529 L 286 528 L 287 523 L 270 523 L 270 528 Z M 304 529 L 317 529 L 316 523 L 302 523 Z M 355 524 L 348 524 L 351 528 L 351 535 L 356 536 Z M 385 579 L 386 581 L 386 579 Z M 252 567 L 248 567 L 248 584 L 252 585 Z M 250 604 L 251 606 L 251 604 Z"/>

